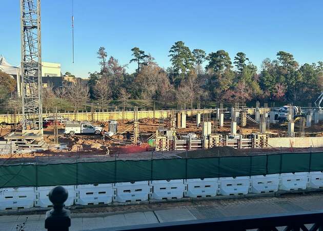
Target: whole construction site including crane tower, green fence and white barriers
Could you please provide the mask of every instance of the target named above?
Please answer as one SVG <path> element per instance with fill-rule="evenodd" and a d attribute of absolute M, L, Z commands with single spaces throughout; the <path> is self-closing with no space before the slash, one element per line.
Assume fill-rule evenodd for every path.
<path fill-rule="evenodd" d="M 92 103 L 90 111 L 44 113 L 40 0 L 21 0 L 21 10 L 22 113 L 0 114 L 0 215 L 49 209 L 58 185 L 65 206 L 84 213 L 321 192 L 323 93 L 308 107 L 108 111 Z"/>

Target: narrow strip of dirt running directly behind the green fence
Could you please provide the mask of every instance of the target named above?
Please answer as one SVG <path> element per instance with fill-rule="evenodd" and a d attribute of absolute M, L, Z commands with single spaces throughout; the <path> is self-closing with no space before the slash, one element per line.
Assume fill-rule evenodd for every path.
<path fill-rule="evenodd" d="M 231 156 L 259 156 L 272 155 L 287 152 L 323 152 L 323 148 L 246 148 L 234 149 L 232 147 L 214 147 L 207 150 L 192 151 L 159 151 L 152 150 L 130 153 L 118 153 L 115 151 L 110 155 L 101 152 L 48 152 L 45 153 L 24 153 L 16 154 L 12 158 L 0 158 L 0 165 L 3 164 L 49 164 L 49 163 L 76 163 L 76 162 L 97 162 L 97 161 L 114 161 L 114 160 L 151 160 L 167 158 L 203 158 L 203 157 L 231 157 Z"/>

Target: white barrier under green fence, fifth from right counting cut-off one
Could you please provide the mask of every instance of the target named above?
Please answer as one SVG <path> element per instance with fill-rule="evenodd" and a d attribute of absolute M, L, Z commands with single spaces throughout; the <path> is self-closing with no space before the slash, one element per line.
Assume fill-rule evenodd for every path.
<path fill-rule="evenodd" d="M 184 184 L 187 184 L 187 192 L 184 192 L 184 197 L 215 197 L 218 187 L 217 180 L 217 178 L 184 180 Z"/>

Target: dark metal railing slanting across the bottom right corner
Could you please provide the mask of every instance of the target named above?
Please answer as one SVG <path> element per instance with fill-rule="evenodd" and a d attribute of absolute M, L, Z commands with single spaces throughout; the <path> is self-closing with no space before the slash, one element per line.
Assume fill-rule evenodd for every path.
<path fill-rule="evenodd" d="M 310 225 L 306 225 L 310 224 Z M 307 228 L 308 226 L 309 228 Z M 323 229 L 323 210 L 317 212 L 303 212 L 293 214 L 274 214 L 247 217 L 230 217 L 220 219 L 192 220 L 179 222 L 166 222 L 156 224 L 132 225 L 116 228 L 92 229 L 94 231 L 105 230 L 248 230 L 257 229 L 258 231 L 271 230 L 322 230 Z"/>

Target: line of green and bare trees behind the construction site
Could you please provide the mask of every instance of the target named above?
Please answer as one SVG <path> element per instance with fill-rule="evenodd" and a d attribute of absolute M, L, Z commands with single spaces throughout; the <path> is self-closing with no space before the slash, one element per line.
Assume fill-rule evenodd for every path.
<path fill-rule="evenodd" d="M 299 65 L 285 51 L 278 51 L 275 60 L 264 59 L 259 69 L 244 52 L 231 59 L 225 50 L 209 54 L 203 49 L 191 51 L 182 41 L 170 48 L 171 66 L 166 69 L 150 53 L 138 47 L 131 51 L 129 63 L 135 63 L 136 70 L 128 73 L 128 64 L 120 64 L 100 47 L 100 69 L 89 73 L 88 84 L 77 80 L 69 88 L 44 88 L 44 107 L 51 108 L 59 99 L 69 101 L 74 110 L 86 109 L 90 101 L 96 101 L 101 109 L 111 100 L 126 107 L 129 99 L 139 100 L 145 107 L 157 103 L 190 108 L 198 102 L 255 100 L 295 104 L 312 102 L 323 90 L 323 62 Z"/>

